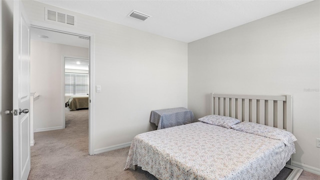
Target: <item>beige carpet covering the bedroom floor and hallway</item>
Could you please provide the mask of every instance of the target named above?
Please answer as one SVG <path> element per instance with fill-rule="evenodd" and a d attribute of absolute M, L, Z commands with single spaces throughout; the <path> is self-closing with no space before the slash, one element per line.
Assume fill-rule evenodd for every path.
<path fill-rule="evenodd" d="M 129 147 L 88 155 L 88 110 L 65 112 L 65 129 L 34 133 L 28 179 L 156 179 L 141 168 L 123 170 Z M 307 179 L 320 176 L 303 171 L 299 180 Z"/>

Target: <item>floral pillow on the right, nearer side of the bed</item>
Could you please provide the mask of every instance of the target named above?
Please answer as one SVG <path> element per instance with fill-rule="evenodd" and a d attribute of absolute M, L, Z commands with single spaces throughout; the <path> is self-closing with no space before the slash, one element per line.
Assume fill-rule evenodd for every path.
<path fill-rule="evenodd" d="M 295 136 L 289 131 L 254 122 L 243 121 L 241 123 L 232 125 L 231 128 L 264 137 L 278 139 L 286 145 L 289 145 L 291 142 L 296 141 Z"/>

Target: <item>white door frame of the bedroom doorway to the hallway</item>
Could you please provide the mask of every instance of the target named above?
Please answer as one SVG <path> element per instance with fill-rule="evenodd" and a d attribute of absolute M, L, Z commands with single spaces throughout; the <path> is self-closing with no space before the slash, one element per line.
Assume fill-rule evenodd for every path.
<path fill-rule="evenodd" d="M 88 133 L 88 153 L 90 155 L 94 154 L 94 34 L 91 32 L 81 31 L 78 29 L 72 29 L 69 27 L 58 26 L 48 23 L 39 23 L 39 25 L 35 25 L 34 22 L 31 22 L 31 27 L 40 28 L 44 30 L 50 30 L 55 32 L 66 33 L 70 35 L 78 35 L 89 38 L 89 133 Z M 63 63 L 64 69 L 64 63 Z M 63 70 L 64 71 L 64 70 Z M 63 75 L 64 77 L 64 75 Z M 64 82 L 64 80 L 63 80 Z M 63 92 L 63 101 L 64 101 L 64 92 Z M 62 103 L 62 108 L 64 112 L 64 104 Z M 64 119 L 64 114 L 63 114 Z"/>

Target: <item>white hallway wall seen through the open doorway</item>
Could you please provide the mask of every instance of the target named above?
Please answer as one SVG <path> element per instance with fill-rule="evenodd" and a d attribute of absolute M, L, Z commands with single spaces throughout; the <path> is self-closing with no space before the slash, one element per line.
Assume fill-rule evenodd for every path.
<path fill-rule="evenodd" d="M 64 99 L 63 55 L 88 58 L 88 48 L 31 40 L 31 92 L 39 94 L 34 101 L 35 132 L 62 128 Z"/>

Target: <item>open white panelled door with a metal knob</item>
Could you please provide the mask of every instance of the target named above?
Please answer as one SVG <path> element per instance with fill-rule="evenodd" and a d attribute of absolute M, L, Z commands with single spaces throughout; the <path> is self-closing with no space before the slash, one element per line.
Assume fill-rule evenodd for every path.
<path fill-rule="evenodd" d="M 30 108 L 30 33 L 21 0 L 13 3 L 13 179 L 27 179 L 30 171 L 30 118 L 27 113 Z"/>

